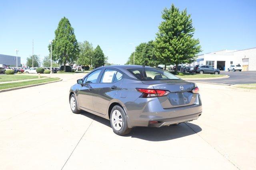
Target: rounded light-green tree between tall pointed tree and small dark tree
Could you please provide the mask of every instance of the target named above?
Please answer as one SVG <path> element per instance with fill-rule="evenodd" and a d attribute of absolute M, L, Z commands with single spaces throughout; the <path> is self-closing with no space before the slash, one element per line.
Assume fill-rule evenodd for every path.
<path fill-rule="evenodd" d="M 92 43 L 84 41 L 79 43 L 79 55 L 77 63 L 80 65 L 90 65 L 91 59 L 94 57 Z"/>

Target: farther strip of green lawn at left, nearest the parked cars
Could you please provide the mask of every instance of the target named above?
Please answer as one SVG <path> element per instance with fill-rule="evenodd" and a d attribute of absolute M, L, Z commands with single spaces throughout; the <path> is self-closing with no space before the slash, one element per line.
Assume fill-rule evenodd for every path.
<path fill-rule="evenodd" d="M 41 78 L 44 78 L 45 76 L 40 76 Z M 0 82 L 10 82 L 10 81 L 16 81 L 16 80 L 28 80 L 38 78 L 38 75 L 36 76 L 30 76 L 30 75 L 24 75 L 24 74 L 0 74 Z"/>

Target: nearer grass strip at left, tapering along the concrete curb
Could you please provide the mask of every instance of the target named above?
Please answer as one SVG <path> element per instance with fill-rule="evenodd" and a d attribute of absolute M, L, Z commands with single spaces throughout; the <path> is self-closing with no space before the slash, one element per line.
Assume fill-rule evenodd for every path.
<path fill-rule="evenodd" d="M 31 80 L 31 81 L 25 81 L 25 82 L 4 83 L 4 84 L 0 84 L 0 90 L 28 86 L 33 84 L 41 84 L 41 83 L 52 82 L 56 80 L 60 80 L 60 78 L 44 78 L 44 79 Z"/>

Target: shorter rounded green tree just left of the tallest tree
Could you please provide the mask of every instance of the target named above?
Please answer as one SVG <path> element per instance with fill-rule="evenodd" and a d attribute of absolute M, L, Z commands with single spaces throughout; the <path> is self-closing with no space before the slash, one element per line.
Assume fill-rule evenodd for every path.
<path fill-rule="evenodd" d="M 160 62 L 156 58 L 154 43 L 148 41 L 148 43 L 140 43 L 135 48 L 134 64 L 145 66 L 158 66 Z M 133 53 L 130 55 L 126 64 L 133 64 Z"/>

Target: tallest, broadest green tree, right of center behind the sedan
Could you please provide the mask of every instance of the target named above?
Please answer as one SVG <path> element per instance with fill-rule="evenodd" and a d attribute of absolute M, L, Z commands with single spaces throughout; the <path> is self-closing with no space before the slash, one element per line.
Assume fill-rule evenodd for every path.
<path fill-rule="evenodd" d="M 162 64 L 176 65 L 176 72 L 178 64 L 192 63 L 201 52 L 199 40 L 193 38 L 195 29 L 190 17 L 186 9 L 180 11 L 172 4 L 170 9 L 163 10 L 163 21 L 156 33 L 156 56 Z"/>

